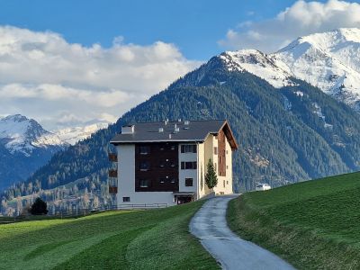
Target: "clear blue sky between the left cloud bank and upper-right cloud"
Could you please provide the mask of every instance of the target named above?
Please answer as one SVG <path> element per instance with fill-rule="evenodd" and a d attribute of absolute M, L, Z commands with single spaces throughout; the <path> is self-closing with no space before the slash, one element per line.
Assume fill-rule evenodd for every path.
<path fill-rule="evenodd" d="M 0 24 L 55 31 L 68 42 L 112 46 L 116 36 L 139 45 L 175 43 L 186 58 L 207 59 L 238 23 L 272 18 L 289 0 L 11 0 L 0 4 Z"/>

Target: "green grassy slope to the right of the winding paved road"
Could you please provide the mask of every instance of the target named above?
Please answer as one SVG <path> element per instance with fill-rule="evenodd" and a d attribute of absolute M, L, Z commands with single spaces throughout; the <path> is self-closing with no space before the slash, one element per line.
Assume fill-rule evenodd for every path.
<path fill-rule="evenodd" d="M 360 173 L 245 193 L 228 221 L 299 269 L 359 269 Z"/>

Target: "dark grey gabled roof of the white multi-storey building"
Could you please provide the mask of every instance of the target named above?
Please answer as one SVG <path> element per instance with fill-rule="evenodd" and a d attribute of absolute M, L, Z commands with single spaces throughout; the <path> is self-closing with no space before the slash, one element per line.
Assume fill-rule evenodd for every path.
<path fill-rule="evenodd" d="M 188 124 L 185 124 L 186 122 Z M 175 132 L 175 125 L 179 129 L 178 132 Z M 161 128 L 163 131 L 159 132 Z M 222 129 L 229 139 L 231 148 L 237 149 L 238 144 L 226 120 L 139 122 L 134 124 L 133 133 L 117 134 L 110 142 L 114 145 L 159 141 L 202 142 L 209 134 L 218 134 Z"/>

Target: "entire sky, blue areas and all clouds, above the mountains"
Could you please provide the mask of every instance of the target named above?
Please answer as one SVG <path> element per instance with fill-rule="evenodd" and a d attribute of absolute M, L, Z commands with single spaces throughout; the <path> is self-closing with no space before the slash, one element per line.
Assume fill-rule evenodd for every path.
<path fill-rule="evenodd" d="M 228 49 L 360 27 L 359 1 L 0 2 L 0 116 L 48 130 L 122 113 Z"/>

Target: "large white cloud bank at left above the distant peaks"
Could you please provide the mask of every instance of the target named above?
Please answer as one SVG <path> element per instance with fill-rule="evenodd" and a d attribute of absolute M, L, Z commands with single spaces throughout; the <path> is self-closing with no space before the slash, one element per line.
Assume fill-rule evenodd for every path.
<path fill-rule="evenodd" d="M 58 33 L 0 26 L 0 115 L 22 113 L 48 129 L 114 121 L 200 65 L 174 44 L 71 44 Z"/>

